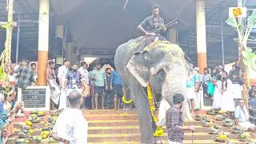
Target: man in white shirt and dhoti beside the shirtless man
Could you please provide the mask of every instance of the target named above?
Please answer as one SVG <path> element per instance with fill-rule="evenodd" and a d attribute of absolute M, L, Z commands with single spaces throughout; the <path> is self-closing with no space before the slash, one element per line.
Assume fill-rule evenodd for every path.
<path fill-rule="evenodd" d="M 64 83 L 66 81 L 66 74 L 69 71 L 69 66 L 70 66 L 70 60 L 64 59 L 64 65 L 58 68 L 58 82 L 59 82 L 59 88 L 61 90 L 61 97 L 59 99 L 58 110 L 61 110 L 62 108 L 66 108 L 66 90 L 64 90 L 65 89 Z"/>

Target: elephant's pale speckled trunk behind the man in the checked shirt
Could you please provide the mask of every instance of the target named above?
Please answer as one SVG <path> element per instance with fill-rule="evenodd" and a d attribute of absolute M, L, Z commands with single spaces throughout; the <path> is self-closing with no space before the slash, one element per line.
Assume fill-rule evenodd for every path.
<path fill-rule="evenodd" d="M 186 97 L 186 78 L 186 69 L 182 70 L 182 68 L 179 68 L 169 71 L 166 74 L 166 80 L 162 83 L 162 98 L 172 105 L 174 94 L 183 94 L 185 98 L 182 105 L 183 118 L 186 121 L 193 121 Z"/>

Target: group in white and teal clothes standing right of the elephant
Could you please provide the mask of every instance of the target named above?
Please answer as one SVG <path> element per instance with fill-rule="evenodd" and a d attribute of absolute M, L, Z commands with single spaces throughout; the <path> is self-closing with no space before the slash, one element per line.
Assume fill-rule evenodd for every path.
<path fill-rule="evenodd" d="M 191 70 L 186 82 L 191 113 L 202 109 L 202 94 L 204 99 L 212 101 L 213 109 L 228 111 L 231 118 L 231 112 L 242 98 L 243 83 L 239 66 L 234 64 L 229 72 L 223 66 L 205 68 L 203 74 L 199 74 L 198 70 L 198 67 Z"/>

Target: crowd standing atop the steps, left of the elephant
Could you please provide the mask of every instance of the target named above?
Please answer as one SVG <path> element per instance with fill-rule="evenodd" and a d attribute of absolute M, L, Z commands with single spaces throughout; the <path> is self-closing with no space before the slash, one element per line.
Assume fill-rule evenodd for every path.
<path fill-rule="evenodd" d="M 101 64 L 90 67 L 86 62 L 72 64 L 64 59 L 62 66 L 56 66 L 49 61 L 46 70 L 46 82 L 50 86 L 51 108 L 66 108 L 66 97 L 72 90 L 78 90 L 83 97 L 81 109 L 120 109 L 122 98 L 122 78 L 116 70 L 107 65 L 103 70 Z M 36 86 L 37 65 L 21 59 L 18 65 L 12 67 L 8 74 L 8 85 L 11 87 L 9 99 L 14 102 L 18 88 Z"/>

